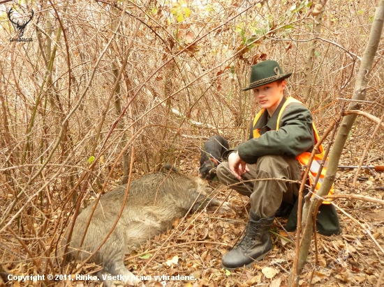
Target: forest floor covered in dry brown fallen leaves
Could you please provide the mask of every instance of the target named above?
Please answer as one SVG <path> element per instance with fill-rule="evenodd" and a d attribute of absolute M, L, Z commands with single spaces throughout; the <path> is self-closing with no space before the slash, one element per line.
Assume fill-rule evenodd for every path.
<path fill-rule="evenodd" d="M 346 160 L 342 164 L 353 164 L 348 162 L 348 155 L 344 158 Z M 198 158 L 193 162 L 198 162 Z M 383 164 L 383 159 L 378 160 L 376 164 Z M 195 173 L 197 169 L 197 165 L 186 167 L 184 170 L 182 166 L 183 173 Z M 340 170 L 335 192 L 350 194 L 354 175 L 354 170 Z M 362 171 L 355 194 L 383 199 L 383 180 L 384 173 L 364 174 Z M 138 250 L 137 254 L 127 256 L 126 267 L 134 274 L 140 274 L 146 286 L 288 286 L 295 245 L 274 234 L 274 249 L 264 261 L 255 263 L 253 267 L 238 268 L 232 272 L 223 270 L 221 256 L 241 238 L 248 222 L 249 199 L 237 192 L 231 192 L 231 189 L 219 183 L 213 182 L 212 185 L 217 187 L 218 199 L 223 200 L 228 196 L 227 201 L 232 210 L 203 210 L 186 217 L 182 222 L 175 222 L 174 226 L 178 226 L 177 228 L 158 235 Z M 381 205 L 351 199 L 334 202 L 361 224 L 369 226 L 369 231 L 378 245 L 384 247 L 384 210 Z M 315 247 L 312 244 L 300 286 L 376 286 L 384 268 L 383 253 L 366 231 L 350 217 L 340 211 L 338 214 L 341 235 L 318 235 L 319 263 L 315 265 Z M 282 228 L 286 220 L 276 218 L 274 232 L 295 240 L 295 232 L 287 234 Z M 96 270 L 94 265 L 85 265 L 81 272 L 87 274 Z M 182 280 L 185 276 L 190 280 Z M 62 284 L 73 285 L 67 285 L 65 282 Z M 96 281 L 78 281 L 76 286 L 100 284 Z"/>

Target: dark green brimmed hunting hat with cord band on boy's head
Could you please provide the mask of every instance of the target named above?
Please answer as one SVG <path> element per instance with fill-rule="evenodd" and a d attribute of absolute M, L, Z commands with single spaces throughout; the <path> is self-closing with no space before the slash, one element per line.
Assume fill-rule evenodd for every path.
<path fill-rule="evenodd" d="M 286 74 L 281 70 L 279 63 L 273 60 L 267 60 L 252 66 L 251 79 L 249 86 L 243 88 L 243 91 L 248 91 L 251 88 L 263 86 L 277 81 L 278 79 L 286 79 L 292 75 L 291 72 Z"/>

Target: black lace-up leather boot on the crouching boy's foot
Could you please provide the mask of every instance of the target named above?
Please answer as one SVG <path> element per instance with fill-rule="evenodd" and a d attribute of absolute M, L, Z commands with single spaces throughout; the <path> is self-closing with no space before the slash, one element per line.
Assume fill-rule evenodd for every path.
<path fill-rule="evenodd" d="M 273 222 L 274 217 L 260 218 L 250 210 L 246 234 L 236 247 L 223 256 L 221 260 L 223 268 L 233 270 L 244 265 L 251 267 L 253 262 L 263 260 L 272 249 L 269 229 Z"/>

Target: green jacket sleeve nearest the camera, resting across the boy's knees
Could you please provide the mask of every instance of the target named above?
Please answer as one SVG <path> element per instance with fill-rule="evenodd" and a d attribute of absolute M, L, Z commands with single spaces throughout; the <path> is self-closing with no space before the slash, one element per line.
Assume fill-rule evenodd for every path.
<path fill-rule="evenodd" d="M 297 157 L 313 147 L 312 115 L 302 104 L 289 104 L 281 115 L 279 130 L 265 132 L 239 145 L 239 157 L 254 164 L 264 155 Z"/>

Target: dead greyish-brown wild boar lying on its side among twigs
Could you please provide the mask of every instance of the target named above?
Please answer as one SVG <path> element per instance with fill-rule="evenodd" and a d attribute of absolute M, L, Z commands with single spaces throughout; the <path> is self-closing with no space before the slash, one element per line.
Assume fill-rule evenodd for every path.
<path fill-rule="evenodd" d="M 112 280 L 108 280 L 109 274 L 119 275 L 124 284 L 138 284 L 140 281 L 135 280 L 124 265 L 124 254 L 131 253 L 149 238 L 166 231 L 175 219 L 186 215 L 190 208 L 195 211 L 200 206 L 219 206 L 220 201 L 211 200 L 204 194 L 206 188 L 199 178 L 184 176 L 175 171 L 161 171 L 133 180 L 119 222 L 103 247 L 91 258 L 92 262 L 103 264 L 98 277 L 104 280 L 105 286 L 115 285 Z M 82 247 L 80 242 L 94 204 L 90 204 L 78 215 L 69 243 L 69 251 L 73 256 L 80 250 L 77 258 L 84 260 L 101 244 L 115 223 L 125 190 L 126 185 L 122 185 L 101 196 Z M 68 231 L 64 245 L 67 237 Z"/>

